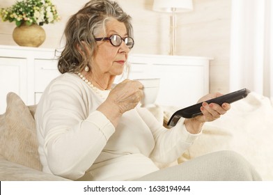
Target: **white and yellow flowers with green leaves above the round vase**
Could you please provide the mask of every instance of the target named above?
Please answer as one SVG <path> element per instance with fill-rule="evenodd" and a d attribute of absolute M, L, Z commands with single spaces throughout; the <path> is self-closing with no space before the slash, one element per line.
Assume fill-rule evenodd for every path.
<path fill-rule="evenodd" d="M 16 26 L 49 24 L 59 21 L 59 15 L 51 0 L 23 0 L 9 8 L 0 8 L 0 17 L 3 22 L 15 22 Z"/>

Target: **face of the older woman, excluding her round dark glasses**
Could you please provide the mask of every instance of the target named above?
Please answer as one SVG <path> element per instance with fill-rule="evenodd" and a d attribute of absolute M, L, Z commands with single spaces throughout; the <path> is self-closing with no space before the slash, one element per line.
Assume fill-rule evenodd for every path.
<path fill-rule="evenodd" d="M 123 22 L 118 22 L 118 20 L 109 20 L 106 24 L 107 36 L 112 36 L 114 34 L 119 35 L 122 38 L 127 37 L 127 30 Z M 96 38 L 103 38 L 104 33 L 99 33 Z M 123 41 L 120 46 L 115 47 L 111 45 L 109 40 L 98 41 L 98 48 L 93 56 L 91 71 L 93 76 L 100 77 L 111 77 L 116 75 L 121 75 L 123 73 L 123 68 L 125 66 L 125 61 L 127 61 L 127 54 L 130 49 L 125 45 Z"/>

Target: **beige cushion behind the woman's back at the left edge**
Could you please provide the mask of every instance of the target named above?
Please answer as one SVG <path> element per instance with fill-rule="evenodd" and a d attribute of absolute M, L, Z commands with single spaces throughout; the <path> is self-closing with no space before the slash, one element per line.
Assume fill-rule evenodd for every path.
<path fill-rule="evenodd" d="M 36 106 L 27 107 L 15 93 L 8 93 L 6 100 L 6 113 L 0 115 L 0 155 L 8 161 L 42 170 L 33 118 Z"/>

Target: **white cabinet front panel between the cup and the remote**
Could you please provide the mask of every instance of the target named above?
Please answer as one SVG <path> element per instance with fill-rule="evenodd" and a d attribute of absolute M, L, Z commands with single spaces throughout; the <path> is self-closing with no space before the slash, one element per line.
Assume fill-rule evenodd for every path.
<path fill-rule="evenodd" d="M 160 78 L 157 104 L 187 107 L 195 104 L 205 91 L 203 66 L 155 65 L 154 72 Z"/>

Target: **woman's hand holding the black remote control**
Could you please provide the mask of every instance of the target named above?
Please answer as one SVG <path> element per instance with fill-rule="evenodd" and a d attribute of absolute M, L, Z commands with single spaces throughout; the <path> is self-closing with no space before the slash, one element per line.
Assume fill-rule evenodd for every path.
<path fill-rule="evenodd" d="M 216 120 L 217 118 L 220 118 L 221 115 L 226 114 L 226 111 L 231 109 L 231 104 L 228 103 L 219 105 L 215 103 L 208 104 L 207 102 L 205 102 L 212 98 L 217 98 L 221 95 L 221 93 L 208 94 L 198 100 L 198 103 L 203 102 L 202 107 L 200 108 L 203 115 L 199 115 L 194 118 L 189 118 L 185 120 L 185 125 L 188 132 L 192 134 L 197 134 L 201 131 L 201 127 L 205 122 Z"/>

